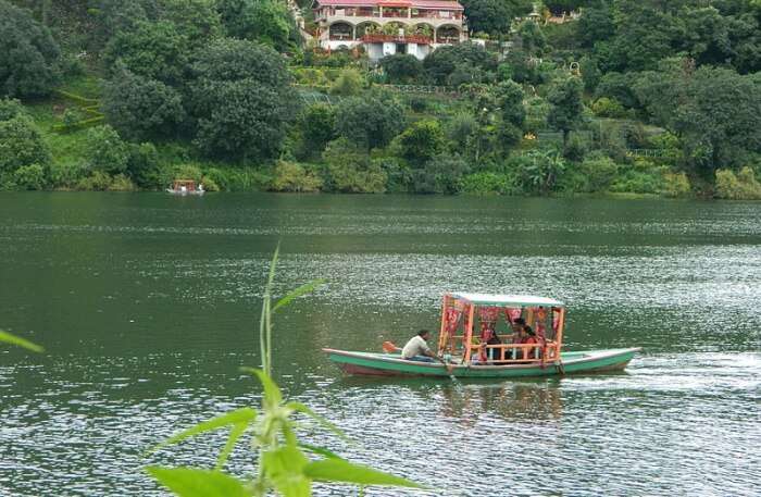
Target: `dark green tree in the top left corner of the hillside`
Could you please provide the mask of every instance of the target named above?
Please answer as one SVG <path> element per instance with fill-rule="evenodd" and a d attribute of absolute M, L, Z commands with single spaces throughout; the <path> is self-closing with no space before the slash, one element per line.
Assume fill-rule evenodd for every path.
<path fill-rule="evenodd" d="M 60 60 L 48 28 L 28 11 L 0 0 L 0 96 L 50 94 L 59 82 Z"/>

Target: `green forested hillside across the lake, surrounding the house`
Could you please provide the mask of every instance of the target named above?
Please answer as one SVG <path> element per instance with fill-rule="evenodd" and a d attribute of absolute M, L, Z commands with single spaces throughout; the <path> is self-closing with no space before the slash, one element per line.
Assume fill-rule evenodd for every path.
<path fill-rule="evenodd" d="M 761 198 L 761 0 L 462 4 L 375 66 L 275 0 L 0 0 L 0 189 Z"/>

